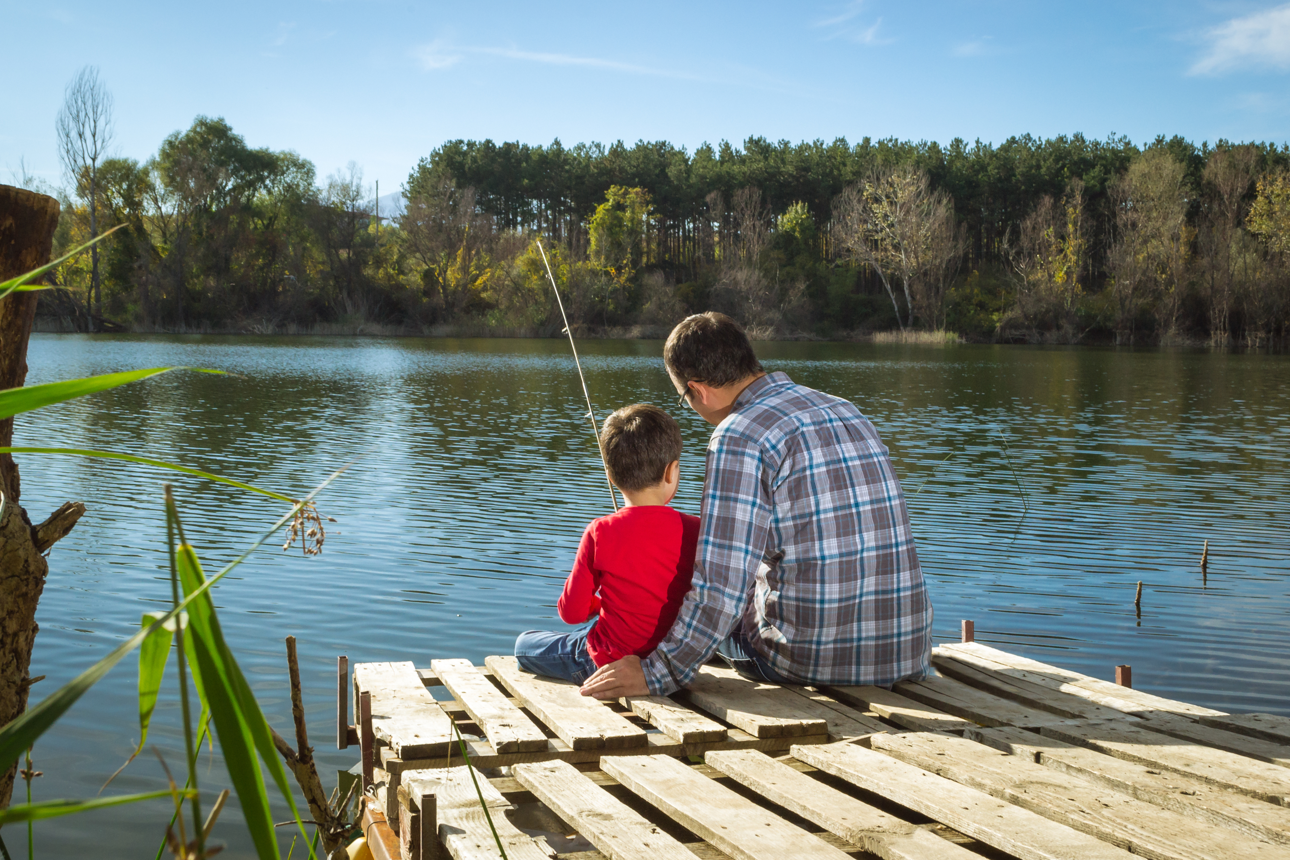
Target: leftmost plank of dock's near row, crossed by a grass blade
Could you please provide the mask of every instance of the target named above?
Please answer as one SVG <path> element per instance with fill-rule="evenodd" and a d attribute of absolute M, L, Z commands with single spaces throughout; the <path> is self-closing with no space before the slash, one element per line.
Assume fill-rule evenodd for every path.
<path fill-rule="evenodd" d="M 534 839 L 511 824 L 506 816 L 510 803 L 482 774 L 475 772 L 475 781 L 471 781 L 471 768 L 466 767 L 406 771 L 402 785 L 412 797 L 435 796 L 439 839 L 455 860 L 497 860 L 497 842 L 480 806 L 480 794 L 507 857 L 551 860 L 555 856 L 543 839 Z"/>

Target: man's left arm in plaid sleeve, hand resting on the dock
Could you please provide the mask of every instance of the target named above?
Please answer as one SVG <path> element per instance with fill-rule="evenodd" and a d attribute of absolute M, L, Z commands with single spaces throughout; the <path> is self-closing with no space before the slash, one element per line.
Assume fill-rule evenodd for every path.
<path fill-rule="evenodd" d="M 675 692 L 730 636 L 743 615 L 766 551 L 770 498 L 762 482 L 764 465 L 757 440 L 729 431 L 713 435 L 694 581 L 676 623 L 639 669 L 627 658 L 601 667 L 587 679 L 586 692 L 604 698 L 613 689 L 639 690 L 641 679 L 655 695 Z"/>

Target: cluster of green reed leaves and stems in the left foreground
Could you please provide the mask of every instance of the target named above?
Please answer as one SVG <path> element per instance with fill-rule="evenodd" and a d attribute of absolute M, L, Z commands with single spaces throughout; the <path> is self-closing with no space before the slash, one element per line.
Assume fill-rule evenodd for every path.
<path fill-rule="evenodd" d="M 106 233 L 104 233 L 106 236 Z M 101 241 L 103 236 L 95 241 Z M 54 260 L 49 266 L 34 269 L 0 282 L 0 300 L 10 293 L 28 289 L 45 289 L 31 281 L 41 276 L 71 255 L 89 248 L 93 242 L 83 245 L 71 254 Z M 99 391 L 107 391 L 119 386 L 141 382 L 151 376 L 178 370 L 199 370 L 201 373 L 221 373 L 197 367 L 151 367 L 117 374 L 103 374 L 86 379 L 70 379 L 44 386 L 31 386 L 0 391 L 0 419 L 12 418 L 26 411 L 39 410 L 53 404 L 64 402 L 76 397 L 83 397 Z M 9 723 L 0 726 L 0 770 L 8 768 L 19 757 L 26 756 L 27 767 L 27 802 L 9 806 L 0 810 L 0 825 L 15 821 L 28 823 L 28 857 L 34 856 L 34 838 L 30 824 L 35 820 L 48 819 L 61 815 L 84 812 L 108 806 L 135 803 L 161 797 L 170 797 L 175 810 L 172 825 L 166 828 L 164 847 L 170 847 L 181 860 L 201 860 L 215 852 L 209 847 L 208 838 L 214 826 L 218 811 L 223 806 L 227 792 L 217 799 L 214 808 L 205 820 L 201 817 L 200 788 L 197 785 L 196 750 L 204 736 L 208 735 L 209 722 L 214 722 L 218 730 L 218 743 L 224 757 L 230 781 L 237 792 L 239 805 L 246 828 L 255 845 L 255 852 L 262 860 L 277 860 L 279 848 L 273 832 L 273 823 L 270 816 L 268 789 L 263 771 L 267 770 L 279 792 L 292 810 L 293 823 L 299 828 L 299 834 L 304 833 L 304 824 L 301 819 L 295 799 L 286 781 L 286 772 L 283 762 L 279 761 L 273 747 L 272 728 L 264 718 L 255 696 L 252 694 L 237 660 L 233 658 L 228 643 L 224 640 L 219 625 L 218 614 L 210 597 L 210 588 L 227 576 L 252 552 L 263 545 L 270 538 L 277 534 L 279 529 L 288 526 L 289 544 L 299 539 L 306 554 L 316 554 L 321 551 L 322 525 L 321 517 L 315 508 L 313 499 L 332 481 L 344 472 L 338 469 L 303 499 L 294 499 L 286 494 L 264 490 L 243 481 L 224 478 L 197 469 L 191 469 L 174 463 L 143 458 L 134 454 L 120 454 L 114 451 L 88 451 L 77 449 L 59 447 L 4 447 L 5 453 L 22 454 L 63 454 L 77 456 L 98 456 L 143 464 L 156 468 L 182 472 L 195 477 L 218 481 L 239 489 L 267 495 L 280 502 L 290 504 L 290 509 L 279 517 L 267 531 L 262 533 L 252 544 L 239 554 L 232 562 L 222 567 L 214 576 L 208 578 L 203 572 L 201 562 L 194 547 L 187 542 L 183 522 L 179 517 L 179 508 L 174 499 L 174 493 L 169 485 L 164 489 L 164 507 L 166 517 L 166 549 L 170 560 L 170 609 L 165 612 L 148 612 L 142 616 L 139 630 L 112 649 L 106 656 L 83 670 L 66 685 L 44 698 L 35 707 L 28 708 Z M 347 467 L 346 467 L 347 468 Z M 0 516 L 4 513 L 6 499 L 0 494 Z M 330 520 L 330 517 L 328 517 Z M 130 757 L 130 761 L 143 749 L 147 739 L 147 728 L 155 712 L 161 691 L 165 665 L 172 651 L 175 655 L 178 696 L 181 701 L 183 728 L 184 728 L 184 758 L 187 765 L 187 780 L 184 788 L 179 789 L 173 777 L 165 792 L 150 792 L 142 794 L 121 794 L 115 797 L 95 797 L 88 799 L 66 799 L 32 802 L 30 784 L 31 777 L 39 771 L 31 767 L 31 748 L 36 740 L 44 735 L 66 712 L 71 708 L 92 686 L 101 681 L 107 672 L 120 663 L 128 654 L 139 649 L 138 673 L 138 700 L 139 700 L 139 744 Z M 191 678 L 191 681 L 190 681 Z M 201 704 L 201 713 L 194 723 L 190 691 L 196 691 Z M 126 761 L 129 765 L 129 761 Z M 165 762 L 163 761 L 165 767 Z M 124 766 L 123 766 L 124 767 Z M 165 767 L 169 776 L 169 767 Z M 117 771 L 120 772 L 120 771 Z M 114 775 L 115 776 L 115 775 Z M 108 780 L 111 781 L 111 779 Z M 106 787 L 106 784 L 104 784 Z M 182 803 L 187 801 L 191 819 L 192 839 L 186 834 L 190 829 L 182 815 Z M 179 837 L 173 834 L 173 825 L 179 825 Z M 161 854 L 159 850 L 159 856 Z M 6 848 L 0 843 L 0 852 L 9 856 Z M 310 857 L 316 856 L 310 846 Z"/>

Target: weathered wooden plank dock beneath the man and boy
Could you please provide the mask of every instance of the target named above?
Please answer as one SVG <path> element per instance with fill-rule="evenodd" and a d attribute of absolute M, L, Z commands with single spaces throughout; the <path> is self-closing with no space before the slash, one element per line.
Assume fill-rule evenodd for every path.
<path fill-rule="evenodd" d="M 613 703 L 510 656 L 368 663 L 351 725 L 342 658 L 338 744 L 360 747 L 377 860 L 498 857 L 497 839 L 511 860 L 1290 860 L 1290 718 L 971 641 L 933 663 L 894 690 L 708 665 Z M 593 850 L 521 830 L 508 811 L 531 803 Z"/>

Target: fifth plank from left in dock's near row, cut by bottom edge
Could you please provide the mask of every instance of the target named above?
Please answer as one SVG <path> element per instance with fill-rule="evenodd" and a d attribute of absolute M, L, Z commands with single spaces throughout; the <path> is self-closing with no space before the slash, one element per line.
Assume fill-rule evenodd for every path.
<path fill-rule="evenodd" d="M 1131 856 L 1029 810 L 855 744 L 793 747 L 792 754 L 1020 860 L 1129 860 Z"/>

